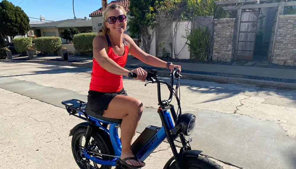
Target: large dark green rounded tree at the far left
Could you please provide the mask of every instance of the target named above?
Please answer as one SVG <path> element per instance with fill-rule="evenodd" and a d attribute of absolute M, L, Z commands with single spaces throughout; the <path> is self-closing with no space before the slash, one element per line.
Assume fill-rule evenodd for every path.
<path fill-rule="evenodd" d="M 30 30 L 30 19 L 27 14 L 11 2 L 0 2 L 0 33 L 13 39 L 16 35 L 26 35 Z"/>

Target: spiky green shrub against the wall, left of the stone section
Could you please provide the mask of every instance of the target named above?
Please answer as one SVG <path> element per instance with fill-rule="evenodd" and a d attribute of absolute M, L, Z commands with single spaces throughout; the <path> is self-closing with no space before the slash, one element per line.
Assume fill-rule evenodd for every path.
<path fill-rule="evenodd" d="M 189 42 L 186 42 L 188 49 L 191 53 L 191 58 L 198 61 L 207 61 L 210 48 L 210 34 L 207 33 L 207 29 L 193 29 L 192 33 L 188 32 L 187 38 Z"/>

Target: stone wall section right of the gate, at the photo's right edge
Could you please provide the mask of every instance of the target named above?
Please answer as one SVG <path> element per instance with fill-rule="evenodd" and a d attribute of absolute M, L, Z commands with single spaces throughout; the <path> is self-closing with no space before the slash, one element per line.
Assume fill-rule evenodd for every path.
<path fill-rule="evenodd" d="M 272 63 L 296 65 L 296 15 L 281 15 Z"/>

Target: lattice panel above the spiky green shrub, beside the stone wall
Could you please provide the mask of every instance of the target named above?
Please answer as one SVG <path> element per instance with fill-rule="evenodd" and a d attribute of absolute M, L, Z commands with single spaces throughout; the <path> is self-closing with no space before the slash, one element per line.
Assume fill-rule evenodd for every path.
<path fill-rule="evenodd" d="M 208 32 L 213 31 L 214 16 L 196 17 L 193 19 L 193 29 L 207 27 Z"/>

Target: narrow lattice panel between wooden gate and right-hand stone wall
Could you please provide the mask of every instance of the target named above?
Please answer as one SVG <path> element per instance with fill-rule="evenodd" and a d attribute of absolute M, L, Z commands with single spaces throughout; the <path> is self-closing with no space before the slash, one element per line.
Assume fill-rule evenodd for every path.
<path fill-rule="evenodd" d="M 267 9 L 266 12 L 266 25 L 265 25 L 265 32 L 264 32 L 264 39 L 263 42 L 269 42 L 271 33 L 272 33 L 272 28 L 274 26 L 274 17 L 276 14 L 277 7 L 270 7 Z"/>

